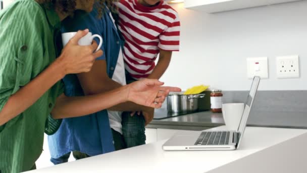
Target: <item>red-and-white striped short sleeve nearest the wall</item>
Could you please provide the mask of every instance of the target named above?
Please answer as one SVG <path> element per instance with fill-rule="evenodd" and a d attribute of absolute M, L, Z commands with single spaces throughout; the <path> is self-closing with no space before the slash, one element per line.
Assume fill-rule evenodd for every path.
<path fill-rule="evenodd" d="M 160 34 L 158 47 L 165 51 L 179 51 L 180 21 L 176 13 L 174 21 Z"/>

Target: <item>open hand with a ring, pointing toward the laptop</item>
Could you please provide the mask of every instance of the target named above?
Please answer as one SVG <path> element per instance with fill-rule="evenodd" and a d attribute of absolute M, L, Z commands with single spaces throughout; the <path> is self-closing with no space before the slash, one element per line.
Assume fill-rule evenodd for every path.
<path fill-rule="evenodd" d="M 180 92 L 181 89 L 161 86 L 164 82 L 158 79 L 142 79 L 126 85 L 127 100 L 139 105 L 160 108 L 169 92 Z"/>

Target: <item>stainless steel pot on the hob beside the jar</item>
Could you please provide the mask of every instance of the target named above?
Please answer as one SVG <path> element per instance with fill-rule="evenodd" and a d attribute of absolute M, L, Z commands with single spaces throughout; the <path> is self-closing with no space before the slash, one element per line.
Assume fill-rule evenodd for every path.
<path fill-rule="evenodd" d="M 198 109 L 198 98 L 205 94 L 169 94 L 167 96 L 167 110 L 169 112 L 193 112 Z"/>

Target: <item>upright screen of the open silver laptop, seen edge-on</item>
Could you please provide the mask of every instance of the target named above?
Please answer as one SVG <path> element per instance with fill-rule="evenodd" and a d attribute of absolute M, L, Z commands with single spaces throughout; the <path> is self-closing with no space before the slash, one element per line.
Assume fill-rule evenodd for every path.
<path fill-rule="evenodd" d="M 245 102 L 244 111 L 243 111 L 241 121 L 240 121 L 240 124 L 239 124 L 239 127 L 238 127 L 239 139 L 241 138 L 241 136 L 244 132 L 244 129 L 245 129 L 245 126 L 246 126 L 246 121 L 247 121 L 247 118 L 248 118 L 248 114 L 249 114 L 253 99 L 256 95 L 257 89 L 258 89 L 259 81 L 260 81 L 259 76 L 255 76 L 252 80 L 251 87 L 250 87 L 250 90 L 249 90 L 249 93 L 248 93 L 248 96 L 247 96 L 247 100 Z"/>

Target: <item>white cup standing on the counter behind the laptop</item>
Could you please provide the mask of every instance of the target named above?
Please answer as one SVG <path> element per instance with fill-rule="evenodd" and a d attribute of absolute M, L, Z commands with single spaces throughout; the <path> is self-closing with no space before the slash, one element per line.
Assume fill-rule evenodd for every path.
<path fill-rule="evenodd" d="M 222 105 L 222 113 L 227 130 L 238 130 L 243 110 L 244 103 L 225 103 Z"/>

